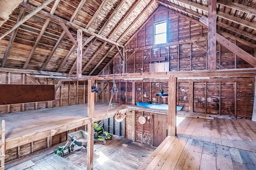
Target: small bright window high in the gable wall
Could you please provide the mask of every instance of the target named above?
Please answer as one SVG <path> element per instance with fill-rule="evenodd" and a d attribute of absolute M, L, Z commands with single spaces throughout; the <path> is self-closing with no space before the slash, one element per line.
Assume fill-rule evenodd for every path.
<path fill-rule="evenodd" d="M 162 44 L 167 42 L 166 21 L 155 23 L 154 41 L 154 44 Z"/>

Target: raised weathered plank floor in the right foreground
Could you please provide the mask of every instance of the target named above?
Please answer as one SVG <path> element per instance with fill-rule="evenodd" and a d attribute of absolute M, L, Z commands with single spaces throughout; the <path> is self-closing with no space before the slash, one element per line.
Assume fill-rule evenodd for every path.
<path fill-rule="evenodd" d="M 194 120 L 193 120 L 194 119 Z M 188 118 L 139 170 L 256 170 L 256 122 Z"/>

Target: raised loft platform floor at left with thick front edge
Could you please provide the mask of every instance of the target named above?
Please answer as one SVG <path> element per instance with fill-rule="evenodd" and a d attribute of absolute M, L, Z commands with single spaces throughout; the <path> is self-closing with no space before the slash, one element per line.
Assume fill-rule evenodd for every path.
<path fill-rule="evenodd" d="M 5 120 L 5 149 L 25 145 L 90 123 L 87 104 L 0 114 Z M 108 103 L 95 102 L 94 118 L 106 113 Z M 123 108 L 111 107 L 107 117 Z"/>

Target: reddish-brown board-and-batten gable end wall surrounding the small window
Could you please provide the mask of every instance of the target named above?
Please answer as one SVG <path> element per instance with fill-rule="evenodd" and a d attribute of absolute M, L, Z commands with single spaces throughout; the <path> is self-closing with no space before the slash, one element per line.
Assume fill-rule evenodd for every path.
<path fill-rule="evenodd" d="M 164 20 L 168 23 L 168 43 L 154 45 L 154 23 Z M 126 73 L 150 72 L 149 64 L 159 62 L 169 62 L 169 71 L 207 70 L 207 31 L 206 27 L 198 23 L 186 20 L 168 10 L 159 10 L 126 46 L 125 64 L 123 65 L 120 56 L 117 56 L 102 74 L 117 74 L 122 70 Z M 255 49 L 252 47 L 229 37 L 226 38 L 254 55 Z M 226 69 L 252 67 L 218 42 L 216 51 L 216 62 Z M 135 102 L 168 102 L 167 97 L 156 96 L 162 82 L 138 81 L 135 85 Z M 255 78 L 178 79 L 177 82 L 177 105 L 183 106 L 183 111 L 252 117 Z M 131 84 L 131 82 L 120 82 L 117 85 L 120 89 L 124 87 L 127 89 L 132 88 Z M 132 95 L 129 93 L 123 93 L 120 100 L 116 102 L 131 104 Z M 141 115 L 147 118 L 144 125 L 138 123 L 138 117 Z M 126 123 L 128 119 L 131 117 L 126 118 Z M 136 141 L 158 146 L 165 138 L 166 117 L 164 115 L 136 111 L 135 121 Z M 158 131 L 161 128 L 162 130 Z M 126 135 L 131 138 L 129 131 L 126 131 Z"/>

